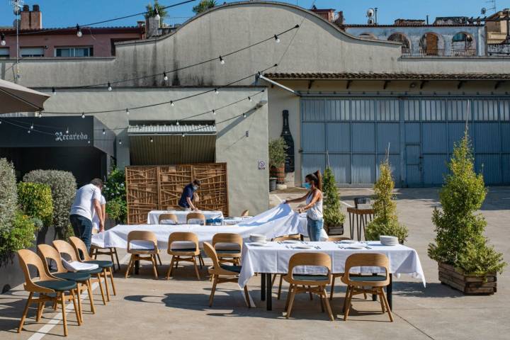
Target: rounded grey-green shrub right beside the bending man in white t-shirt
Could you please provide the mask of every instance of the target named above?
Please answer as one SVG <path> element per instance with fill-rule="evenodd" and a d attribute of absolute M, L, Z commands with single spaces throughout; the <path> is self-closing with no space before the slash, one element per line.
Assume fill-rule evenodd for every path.
<path fill-rule="evenodd" d="M 23 177 L 25 182 L 43 183 L 51 188 L 53 202 L 53 225 L 60 239 L 72 235 L 69 210 L 76 195 L 77 183 L 69 171 L 33 170 Z"/>

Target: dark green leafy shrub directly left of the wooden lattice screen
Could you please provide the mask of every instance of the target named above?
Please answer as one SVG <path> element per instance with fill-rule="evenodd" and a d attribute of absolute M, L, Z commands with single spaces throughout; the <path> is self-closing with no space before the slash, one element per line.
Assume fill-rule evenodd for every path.
<path fill-rule="evenodd" d="M 125 223 L 128 219 L 128 203 L 126 201 L 125 173 L 114 167 L 103 186 L 106 198 L 106 213 L 116 222 Z"/>

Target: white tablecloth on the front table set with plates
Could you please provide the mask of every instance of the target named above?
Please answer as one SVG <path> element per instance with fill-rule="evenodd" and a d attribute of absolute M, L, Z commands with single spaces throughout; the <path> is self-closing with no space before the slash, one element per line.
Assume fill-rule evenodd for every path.
<path fill-rule="evenodd" d="M 336 244 L 334 242 L 307 242 L 317 245 L 320 249 L 293 249 L 293 244 L 279 244 L 270 242 L 270 246 L 252 246 L 244 244 L 242 249 L 242 271 L 239 275 L 239 286 L 242 288 L 255 273 L 287 273 L 290 256 L 297 252 L 322 252 L 331 257 L 331 273 L 344 273 L 345 262 L 349 255 L 355 253 L 379 253 L 385 254 L 390 259 L 390 273 L 411 274 L 415 278 L 421 278 L 425 285 L 423 268 L 416 250 L 404 245 L 383 246 L 380 242 L 368 242 L 371 249 L 341 249 L 348 244 Z M 299 273 L 322 273 L 324 268 L 300 267 L 296 268 Z M 297 272 L 295 269 L 295 273 Z M 359 268 L 353 268 L 353 272 L 359 273 Z M 361 273 L 378 273 L 380 268 L 363 268 Z"/>

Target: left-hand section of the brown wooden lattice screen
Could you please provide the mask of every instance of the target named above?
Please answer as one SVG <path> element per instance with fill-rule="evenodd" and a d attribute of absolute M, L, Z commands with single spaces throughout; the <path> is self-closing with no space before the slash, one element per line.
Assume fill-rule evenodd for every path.
<path fill-rule="evenodd" d="M 147 223 L 149 211 L 159 208 L 157 173 L 157 166 L 126 167 L 128 224 Z"/>

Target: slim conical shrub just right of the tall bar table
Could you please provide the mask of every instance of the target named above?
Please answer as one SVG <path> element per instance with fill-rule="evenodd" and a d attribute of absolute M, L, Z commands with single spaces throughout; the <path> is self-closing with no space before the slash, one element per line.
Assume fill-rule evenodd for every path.
<path fill-rule="evenodd" d="M 393 196 L 393 182 L 390 161 L 386 157 L 379 164 L 379 179 L 374 185 L 374 219 L 365 227 L 365 239 L 378 241 L 380 235 L 398 237 L 400 243 L 407 239 L 408 230 L 398 221 L 397 203 Z"/>

